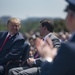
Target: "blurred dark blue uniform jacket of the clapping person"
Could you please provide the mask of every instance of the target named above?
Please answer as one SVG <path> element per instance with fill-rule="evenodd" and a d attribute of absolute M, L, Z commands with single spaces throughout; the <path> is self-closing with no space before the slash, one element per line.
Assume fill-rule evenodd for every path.
<path fill-rule="evenodd" d="M 43 64 L 41 75 L 75 75 L 75 35 L 61 45 L 52 63 Z"/>

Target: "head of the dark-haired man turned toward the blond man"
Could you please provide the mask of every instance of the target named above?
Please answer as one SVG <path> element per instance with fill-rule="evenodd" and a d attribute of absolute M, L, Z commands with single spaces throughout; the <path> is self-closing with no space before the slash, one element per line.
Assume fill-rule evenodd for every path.
<path fill-rule="evenodd" d="M 53 32 L 53 29 L 54 25 L 51 20 L 40 21 L 40 35 L 47 35 L 47 33 Z"/>

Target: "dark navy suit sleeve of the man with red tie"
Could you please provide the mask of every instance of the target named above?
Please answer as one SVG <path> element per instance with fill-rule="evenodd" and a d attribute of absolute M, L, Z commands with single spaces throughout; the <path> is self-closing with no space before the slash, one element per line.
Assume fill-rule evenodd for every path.
<path fill-rule="evenodd" d="M 2 60 L 2 63 L 3 62 L 6 63 L 9 60 L 20 59 L 23 49 L 24 49 L 24 39 L 16 41 L 10 48 L 9 53 L 0 59 L 0 63 L 1 63 L 1 60 Z"/>

